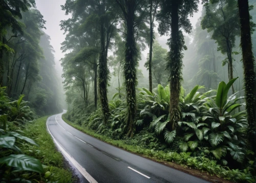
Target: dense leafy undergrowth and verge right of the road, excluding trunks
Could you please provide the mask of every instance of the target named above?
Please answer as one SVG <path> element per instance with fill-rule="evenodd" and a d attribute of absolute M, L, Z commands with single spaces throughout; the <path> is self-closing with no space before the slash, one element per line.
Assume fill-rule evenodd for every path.
<path fill-rule="evenodd" d="M 169 88 L 160 84 L 156 93 L 139 89 L 139 117 L 133 138 L 124 133 L 124 100 L 109 103 L 111 115 L 107 124 L 102 121 L 100 110 L 91 115 L 68 112 L 62 118 L 77 129 L 125 150 L 235 182 L 254 182 L 253 162 L 249 158 L 253 152 L 246 140 L 245 103 L 239 103 L 244 97 L 236 97 L 237 93 L 228 96 L 236 79 L 227 84 L 221 82 L 218 90 L 206 93 L 200 92 L 204 87 L 198 85 L 188 94 L 181 88 L 182 117 L 173 131 L 167 126 Z"/>

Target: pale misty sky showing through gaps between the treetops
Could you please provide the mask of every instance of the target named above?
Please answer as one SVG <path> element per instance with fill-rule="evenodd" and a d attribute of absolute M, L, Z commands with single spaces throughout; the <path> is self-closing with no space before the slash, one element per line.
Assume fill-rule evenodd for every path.
<path fill-rule="evenodd" d="M 46 20 L 46 30 L 44 30 L 51 37 L 51 45 L 55 50 L 55 60 L 56 62 L 64 57 L 64 53 L 60 50 L 60 43 L 65 40 L 65 35 L 63 31 L 60 30 L 60 20 L 68 19 L 65 15 L 65 11 L 62 11 L 60 5 L 64 5 L 66 0 L 36 0 L 37 9 L 41 12 Z M 191 24 L 196 25 L 197 20 L 201 15 L 202 5 L 199 5 L 199 12 L 195 13 L 193 17 L 190 18 Z M 155 28 L 156 31 L 157 28 Z M 167 37 L 162 36 L 158 39 L 161 42 L 166 42 Z M 146 57 L 148 50 L 143 52 Z M 56 63 L 59 65 L 59 63 Z"/>

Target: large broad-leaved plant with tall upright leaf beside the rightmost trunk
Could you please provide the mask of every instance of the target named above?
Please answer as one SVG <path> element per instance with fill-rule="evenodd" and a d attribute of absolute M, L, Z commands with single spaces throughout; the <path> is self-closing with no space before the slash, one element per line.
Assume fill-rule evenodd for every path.
<path fill-rule="evenodd" d="M 225 156 L 227 152 L 239 163 L 245 158 L 245 133 L 248 126 L 245 111 L 236 112 L 238 107 L 245 103 L 238 103 L 243 97 L 236 94 L 227 97 L 228 90 L 237 78 L 230 80 L 227 84 L 222 81 L 219 84 L 217 96 L 209 98 L 205 106 L 202 121 L 208 124 L 204 128 L 204 139 L 211 145 L 211 153 L 217 158 Z"/>

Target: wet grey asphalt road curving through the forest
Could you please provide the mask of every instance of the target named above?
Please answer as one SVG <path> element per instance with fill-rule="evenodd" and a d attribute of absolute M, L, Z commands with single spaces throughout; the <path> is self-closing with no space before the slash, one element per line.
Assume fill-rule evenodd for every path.
<path fill-rule="evenodd" d="M 62 154 L 83 175 L 81 182 L 207 182 L 99 141 L 64 122 L 62 113 L 49 117 L 47 128 Z"/>

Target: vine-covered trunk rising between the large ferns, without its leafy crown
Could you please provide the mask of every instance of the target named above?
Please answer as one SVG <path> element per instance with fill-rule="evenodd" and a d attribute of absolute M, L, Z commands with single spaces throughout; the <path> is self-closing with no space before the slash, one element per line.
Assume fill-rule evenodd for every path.
<path fill-rule="evenodd" d="M 178 3 L 179 2 L 176 0 L 172 1 L 172 37 L 169 45 L 169 63 L 167 63 L 167 66 L 170 71 L 170 130 L 176 129 L 177 123 L 180 120 L 179 95 L 182 80 L 182 37 L 179 33 Z"/>

